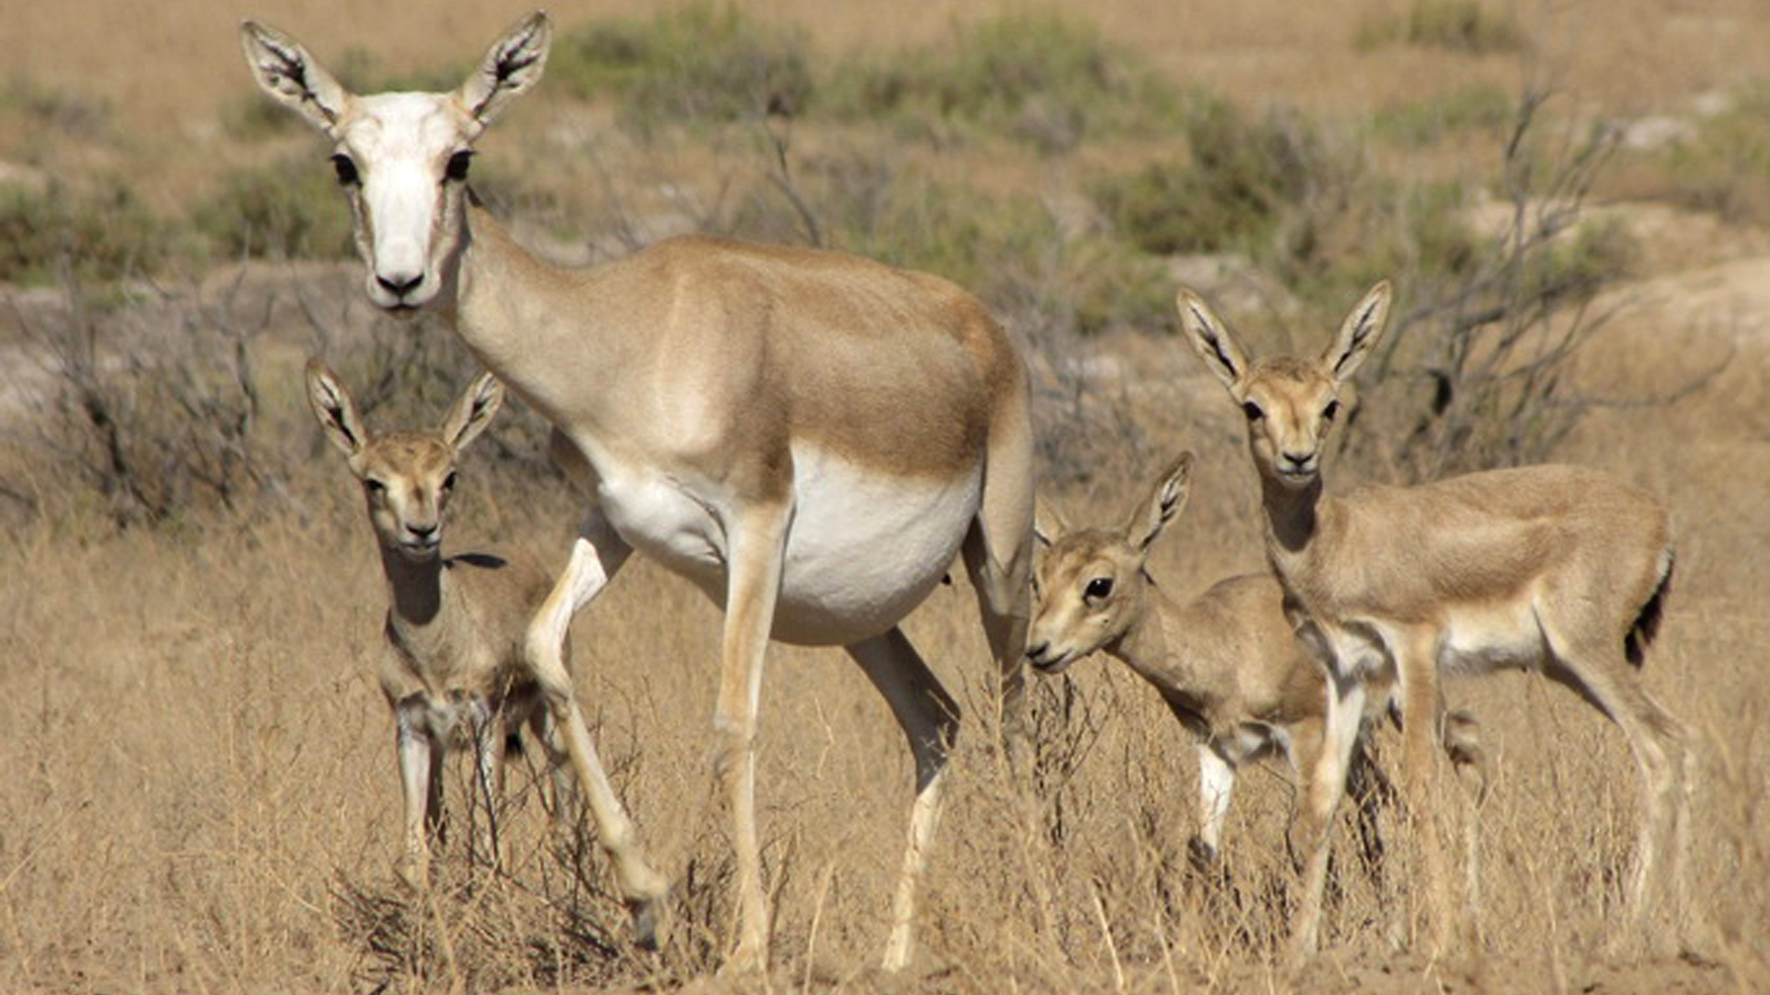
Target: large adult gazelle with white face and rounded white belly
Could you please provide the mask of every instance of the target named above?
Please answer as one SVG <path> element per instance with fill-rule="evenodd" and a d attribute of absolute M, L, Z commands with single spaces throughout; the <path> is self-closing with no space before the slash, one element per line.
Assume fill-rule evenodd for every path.
<path fill-rule="evenodd" d="M 370 299 L 450 315 L 552 423 L 586 494 L 568 565 L 527 632 L 579 777 L 600 768 L 561 646 L 639 549 L 726 613 L 713 726 L 738 864 L 729 963 L 761 968 L 765 648 L 844 646 L 915 758 L 885 949 L 887 968 L 908 963 L 958 708 L 897 623 L 956 556 L 1002 673 L 1009 745 L 1025 738 L 1034 451 L 1027 370 L 1007 333 L 945 280 L 832 251 L 681 237 L 591 269 L 536 258 L 471 202 L 466 177 L 473 142 L 542 74 L 543 14 L 512 27 L 448 94 L 354 96 L 281 32 L 248 23 L 242 41 L 260 87 L 333 142 Z M 630 871 L 623 889 L 646 919 L 662 880 Z"/>

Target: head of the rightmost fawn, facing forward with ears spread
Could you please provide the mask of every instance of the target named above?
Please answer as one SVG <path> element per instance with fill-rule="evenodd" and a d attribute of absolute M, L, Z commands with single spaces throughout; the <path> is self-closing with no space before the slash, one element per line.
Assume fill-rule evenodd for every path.
<path fill-rule="evenodd" d="M 1389 282 L 1377 283 L 1359 299 L 1315 361 L 1292 356 L 1250 361 L 1198 294 L 1182 289 L 1175 305 L 1186 340 L 1248 416 L 1248 448 L 1260 476 L 1290 490 L 1315 483 L 1322 448 L 1340 414 L 1340 395 L 1382 336 Z"/>

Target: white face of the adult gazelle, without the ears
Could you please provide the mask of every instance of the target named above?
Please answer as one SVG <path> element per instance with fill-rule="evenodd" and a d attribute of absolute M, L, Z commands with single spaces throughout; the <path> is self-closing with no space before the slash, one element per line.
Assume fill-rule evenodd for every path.
<path fill-rule="evenodd" d="M 359 97 L 338 119 L 333 168 L 377 306 L 428 305 L 450 276 L 478 131 L 453 94 Z"/>

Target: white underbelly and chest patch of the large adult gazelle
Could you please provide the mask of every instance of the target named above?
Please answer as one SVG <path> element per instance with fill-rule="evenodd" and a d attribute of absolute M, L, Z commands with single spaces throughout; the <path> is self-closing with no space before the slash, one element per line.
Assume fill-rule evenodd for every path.
<path fill-rule="evenodd" d="M 894 478 L 795 450 L 793 490 L 772 636 L 850 644 L 901 621 L 947 574 L 977 515 L 982 467 L 950 482 Z M 729 545 L 713 499 L 657 473 L 604 476 L 600 496 L 634 549 L 724 605 Z"/>

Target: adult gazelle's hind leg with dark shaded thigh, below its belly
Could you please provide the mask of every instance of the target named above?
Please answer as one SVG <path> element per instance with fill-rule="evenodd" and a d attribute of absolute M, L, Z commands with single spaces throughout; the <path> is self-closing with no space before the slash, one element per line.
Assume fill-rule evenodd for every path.
<path fill-rule="evenodd" d="M 903 970 L 910 963 L 915 921 L 915 892 L 927 864 L 940 823 L 940 784 L 947 754 L 959 731 L 959 706 L 927 669 L 901 629 L 857 643 L 848 653 L 866 671 L 867 680 L 890 705 L 897 726 L 910 740 L 915 758 L 915 804 L 910 809 L 910 845 L 897 875 L 892 899 L 890 938 L 885 944 L 885 970 Z"/>

